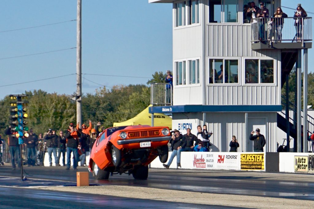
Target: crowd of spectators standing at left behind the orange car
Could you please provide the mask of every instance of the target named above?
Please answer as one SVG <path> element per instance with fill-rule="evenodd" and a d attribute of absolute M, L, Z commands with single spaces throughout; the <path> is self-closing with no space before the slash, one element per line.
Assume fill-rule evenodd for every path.
<path fill-rule="evenodd" d="M 27 166 L 43 165 L 46 152 L 49 157 L 49 166 L 52 166 L 53 155 L 55 166 L 61 166 L 60 164 L 62 163 L 62 166 L 65 166 L 66 170 L 69 170 L 71 166 L 71 153 L 73 154 L 74 170 L 77 169 L 78 162 L 80 162 L 81 166 L 85 166 L 86 152 L 90 152 L 93 147 L 100 133 L 98 130 L 99 126 L 100 122 L 95 125 L 95 128 L 92 128 L 92 123 L 89 120 L 89 127 L 82 124 L 82 127 L 79 128 L 79 123 L 74 127 L 73 123 L 70 123 L 68 129 L 66 131 L 59 130 L 59 134 L 53 129 L 48 129 L 45 135 L 42 133 L 39 133 L 39 135 L 35 134 L 32 128 L 24 131 L 28 133 L 28 137 L 23 138 L 23 146 L 26 148 Z M 11 126 L 5 130 L 5 134 L 8 135 L 8 148 L 13 170 L 15 170 L 15 164 L 18 167 L 21 166 L 19 138 L 15 136 L 16 133 Z M 4 140 L 0 140 L 0 142 L 4 143 Z M 0 154 L 1 165 L 1 162 L 3 162 L 2 152 Z M 60 162 L 61 156 L 62 162 Z M 67 162 L 65 162 L 65 159 L 67 159 Z"/>

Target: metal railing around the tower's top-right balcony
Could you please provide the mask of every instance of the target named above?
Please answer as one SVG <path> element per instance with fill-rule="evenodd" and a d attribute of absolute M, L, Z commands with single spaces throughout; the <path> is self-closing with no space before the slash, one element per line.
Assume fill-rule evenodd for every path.
<path fill-rule="evenodd" d="M 279 43 L 312 40 L 312 18 L 254 18 L 251 19 L 251 41 Z"/>

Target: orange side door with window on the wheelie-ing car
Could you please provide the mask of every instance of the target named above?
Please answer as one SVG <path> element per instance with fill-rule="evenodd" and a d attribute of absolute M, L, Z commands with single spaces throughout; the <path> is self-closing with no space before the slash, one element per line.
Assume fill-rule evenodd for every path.
<path fill-rule="evenodd" d="M 96 141 L 96 145 L 94 147 L 94 162 L 98 165 L 100 169 L 103 169 L 103 167 L 106 166 L 107 164 L 107 157 L 106 157 L 106 148 L 107 148 L 107 143 L 106 143 L 106 131 L 101 133 L 99 139 Z"/>

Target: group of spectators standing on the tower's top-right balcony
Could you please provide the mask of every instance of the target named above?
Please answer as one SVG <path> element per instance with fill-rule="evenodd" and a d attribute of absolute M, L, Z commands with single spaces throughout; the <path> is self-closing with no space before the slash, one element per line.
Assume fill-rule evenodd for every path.
<path fill-rule="evenodd" d="M 265 7 L 264 3 L 261 2 L 260 7 L 257 7 L 254 2 L 249 2 L 243 7 L 243 19 L 244 23 L 252 24 L 252 33 L 254 40 L 264 42 L 265 40 L 271 41 L 272 39 L 282 39 L 282 29 L 284 25 L 284 18 L 288 15 L 283 12 L 281 7 L 276 9 L 273 16 L 269 17 L 269 10 Z M 301 4 L 297 5 L 294 14 L 294 26 L 296 29 L 295 39 L 300 41 L 302 39 L 302 25 L 303 18 L 307 17 L 306 11 L 302 8 Z M 258 19 L 261 18 L 261 19 Z M 267 24 L 267 27 L 265 27 Z M 265 28 L 267 33 L 265 33 Z M 267 37 L 266 37 L 267 35 Z"/>

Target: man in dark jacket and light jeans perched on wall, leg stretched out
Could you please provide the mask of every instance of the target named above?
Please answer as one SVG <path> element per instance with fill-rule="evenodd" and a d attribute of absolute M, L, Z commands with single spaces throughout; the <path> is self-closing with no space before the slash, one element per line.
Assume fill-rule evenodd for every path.
<path fill-rule="evenodd" d="M 181 160 L 181 152 L 178 152 L 182 147 L 185 147 L 185 144 L 183 144 L 182 140 L 183 136 L 182 134 L 178 131 L 175 130 L 175 134 L 171 136 L 170 143 L 173 147 L 173 151 L 171 153 L 170 159 L 167 164 L 162 164 L 166 169 L 169 168 L 169 166 L 172 163 L 172 160 L 175 156 L 177 156 L 177 168 L 181 168 L 180 160 Z"/>

